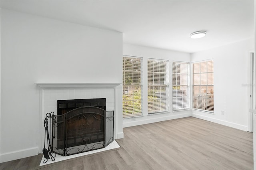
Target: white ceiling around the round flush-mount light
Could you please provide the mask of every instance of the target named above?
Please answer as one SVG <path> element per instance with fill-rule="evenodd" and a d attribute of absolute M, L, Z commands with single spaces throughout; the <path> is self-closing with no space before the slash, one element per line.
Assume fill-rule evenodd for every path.
<path fill-rule="evenodd" d="M 253 0 L 1 0 L 7 8 L 123 33 L 124 43 L 193 53 L 253 38 Z M 207 36 L 191 39 L 192 32 Z"/>

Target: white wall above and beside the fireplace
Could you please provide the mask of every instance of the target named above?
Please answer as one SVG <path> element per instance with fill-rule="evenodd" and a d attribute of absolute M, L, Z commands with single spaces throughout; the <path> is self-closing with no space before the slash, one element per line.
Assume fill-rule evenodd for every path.
<path fill-rule="evenodd" d="M 122 83 L 122 33 L 1 9 L 1 162 L 38 154 L 34 83 Z M 122 133 L 122 87 L 118 133 Z"/>

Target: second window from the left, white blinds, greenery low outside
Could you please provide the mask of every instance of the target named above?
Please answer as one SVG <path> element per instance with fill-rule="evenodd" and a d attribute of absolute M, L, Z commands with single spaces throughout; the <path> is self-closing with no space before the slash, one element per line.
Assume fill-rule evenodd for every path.
<path fill-rule="evenodd" d="M 169 111 L 168 61 L 148 59 L 148 113 Z"/>

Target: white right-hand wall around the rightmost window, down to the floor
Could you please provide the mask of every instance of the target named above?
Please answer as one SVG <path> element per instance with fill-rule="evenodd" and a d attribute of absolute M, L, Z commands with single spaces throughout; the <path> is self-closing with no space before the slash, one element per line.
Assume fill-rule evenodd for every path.
<path fill-rule="evenodd" d="M 192 116 L 247 130 L 247 60 L 253 48 L 249 39 L 191 55 L 191 62 L 214 60 L 214 114 L 192 111 Z"/>

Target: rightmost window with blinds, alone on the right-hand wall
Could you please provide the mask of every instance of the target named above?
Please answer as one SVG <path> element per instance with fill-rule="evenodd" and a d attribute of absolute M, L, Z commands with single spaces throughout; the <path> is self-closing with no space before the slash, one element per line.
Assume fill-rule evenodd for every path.
<path fill-rule="evenodd" d="M 214 111 L 213 61 L 193 63 L 192 109 Z"/>

